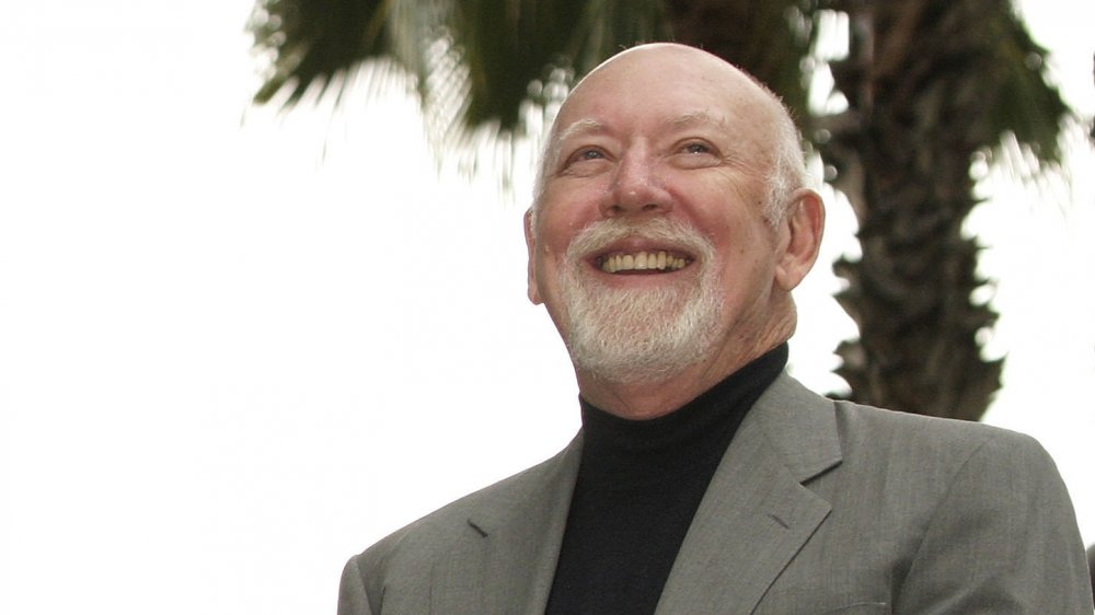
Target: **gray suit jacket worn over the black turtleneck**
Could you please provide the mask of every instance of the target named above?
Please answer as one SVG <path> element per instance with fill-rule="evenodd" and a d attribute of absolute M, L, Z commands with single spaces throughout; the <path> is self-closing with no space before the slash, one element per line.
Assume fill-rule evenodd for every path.
<path fill-rule="evenodd" d="M 339 615 L 542 614 L 580 452 L 579 433 L 351 558 Z M 1087 583 L 1068 492 L 1033 439 L 834 403 L 781 375 L 723 457 L 657 613 L 1091 615 Z"/>

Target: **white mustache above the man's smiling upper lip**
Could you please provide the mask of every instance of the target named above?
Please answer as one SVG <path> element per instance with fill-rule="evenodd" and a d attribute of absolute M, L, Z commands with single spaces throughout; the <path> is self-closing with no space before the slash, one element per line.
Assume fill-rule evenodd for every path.
<path fill-rule="evenodd" d="M 715 254 L 715 244 L 691 224 L 667 218 L 623 220 L 606 218 L 589 224 L 570 240 L 566 248 L 569 262 L 577 262 L 600 252 L 614 242 L 637 237 L 665 243 L 708 263 Z"/>

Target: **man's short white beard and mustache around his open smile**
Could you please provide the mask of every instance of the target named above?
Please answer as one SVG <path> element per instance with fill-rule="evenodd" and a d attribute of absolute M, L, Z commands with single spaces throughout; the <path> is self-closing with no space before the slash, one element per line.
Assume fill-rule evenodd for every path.
<path fill-rule="evenodd" d="M 615 289 L 589 275 L 589 254 L 623 237 L 669 242 L 695 256 L 687 285 Z M 566 346 L 575 367 L 619 383 L 664 381 L 708 356 L 717 340 L 723 292 L 714 245 L 690 227 L 662 218 L 608 219 L 584 229 L 560 276 Z"/>

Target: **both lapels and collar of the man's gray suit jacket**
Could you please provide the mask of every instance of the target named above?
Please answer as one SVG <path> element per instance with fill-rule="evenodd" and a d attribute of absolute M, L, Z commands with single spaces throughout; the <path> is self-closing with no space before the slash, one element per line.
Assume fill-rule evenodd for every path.
<path fill-rule="evenodd" d="M 579 433 L 471 511 L 468 548 L 435 564 L 435 613 L 544 612 L 580 453 Z M 657 613 L 752 611 L 831 510 L 803 483 L 840 461 L 832 403 L 781 374 L 723 456 Z"/>

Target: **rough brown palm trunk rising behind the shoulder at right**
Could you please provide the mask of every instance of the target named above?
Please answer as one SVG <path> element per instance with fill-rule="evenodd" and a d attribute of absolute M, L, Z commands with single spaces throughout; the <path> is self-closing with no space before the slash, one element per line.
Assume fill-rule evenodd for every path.
<path fill-rule="evenodd" d="M 971 301 L 984 285 L 963 233 L 977 205 L 971 159 L 999 135 L 981 119 L 993 42 L 984 15 L 1002 0 L 835 2 L 852 24 L 833 66 L 848 111 L 822 158 L 838 170 L 860 223 L 862 257 L 834 265 L 838 300 L 860 337 L 838 348 L 857 402 L 977 420 L 1000 387 L 1002 360 L 980 337 L 996 314 Z M 839 128 L 838 128 L 839 127 Z"/>

